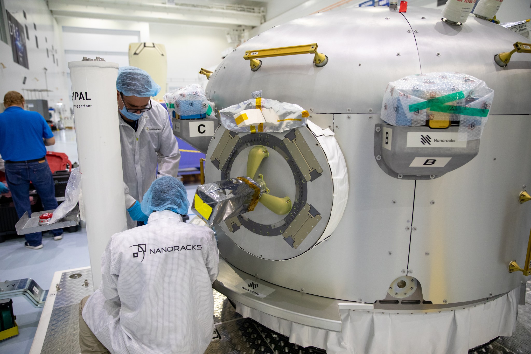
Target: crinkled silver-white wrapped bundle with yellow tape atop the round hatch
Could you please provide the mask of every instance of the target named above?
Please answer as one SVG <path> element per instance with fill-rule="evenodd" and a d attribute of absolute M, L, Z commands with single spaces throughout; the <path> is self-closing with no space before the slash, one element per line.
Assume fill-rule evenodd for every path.
<path fill-rule="evenodd" d="M 252 92 L 252 99 L 221 109 L 219 111 L 221 124 L 230 131 L 238 133 L 284 132 L 306 125 L 306 119 L 310 114 L 301 106 L 262 98 L 261 95 L 262 91 Z M 242 115 L 242 112 L 255 109 L 261 110 L 258 120 L 256 122 L 253 120 L 253 123 L 257 124 L 246 124 L 246 118 L 251 119 L 251 116 Z M 275 117 L 276 122 L 270 122 L 270 117 Z"/>

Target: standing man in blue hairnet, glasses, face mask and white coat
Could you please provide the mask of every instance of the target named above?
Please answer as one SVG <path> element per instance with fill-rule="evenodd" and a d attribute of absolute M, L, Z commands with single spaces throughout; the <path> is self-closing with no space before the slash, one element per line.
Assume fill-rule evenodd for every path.
<path fill-rule="evenodd" d="M 134 66 L 122 66 L 116 79 L 122 168 L 126 190 L 127 226 L 148 220 L 140 203 L 151 182 L 161 176 L 177 177 L 181 152 L 169 124 L 168 111 L 152 101 L 160 86 Z M 158 173 L 157 173 L 158 165 Z M 186 211 L 184 214 L 186 214 Z"/>

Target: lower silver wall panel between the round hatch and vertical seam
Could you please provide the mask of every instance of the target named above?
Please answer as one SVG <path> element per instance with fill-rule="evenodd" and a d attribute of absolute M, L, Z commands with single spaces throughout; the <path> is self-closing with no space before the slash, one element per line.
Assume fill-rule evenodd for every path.
<path fill-rule="evenodd" d="M 344 217 L 332 236 L 281 262 L 252 256 L 222 230 L 217 234 L 218 247 L 238 269 L 279 286 L 374 303 L 386 297 L 389 284 L 407 269 L 411 230 L 406 227 L 412 226 L 415 181 L 392 178 L 376 163 L 373 132 L 374 125 L 382 123 L 379 115 L 334 115 L 334 123 L 339 126 L 336 139 L 345 154 L 350 188 Z"/>

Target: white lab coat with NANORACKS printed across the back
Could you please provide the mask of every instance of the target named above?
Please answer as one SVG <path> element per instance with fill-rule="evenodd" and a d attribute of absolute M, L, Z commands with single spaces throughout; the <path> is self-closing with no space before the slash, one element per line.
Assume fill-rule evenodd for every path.
<path fill-rule="evenodd" d="M 148 225 L 111 237 L 83 320 L 113 354 L 203 354 L 212 340 L 218 260 L 212 230 L 154 212 Z"/>

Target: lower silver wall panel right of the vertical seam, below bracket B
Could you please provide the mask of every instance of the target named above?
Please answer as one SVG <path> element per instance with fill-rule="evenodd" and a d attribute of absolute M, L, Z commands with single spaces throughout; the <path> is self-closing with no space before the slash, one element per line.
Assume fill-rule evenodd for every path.
<path fill-rule="evenodd" d="M 531 182 L 530 118 L 491 116 L 472 161 L 417 180 L 409 270 L 426 300 L 470 301 L 527 280 L 507 264 L 524 263 L 531 228 L 531 205 L 518 202 Z"/>

